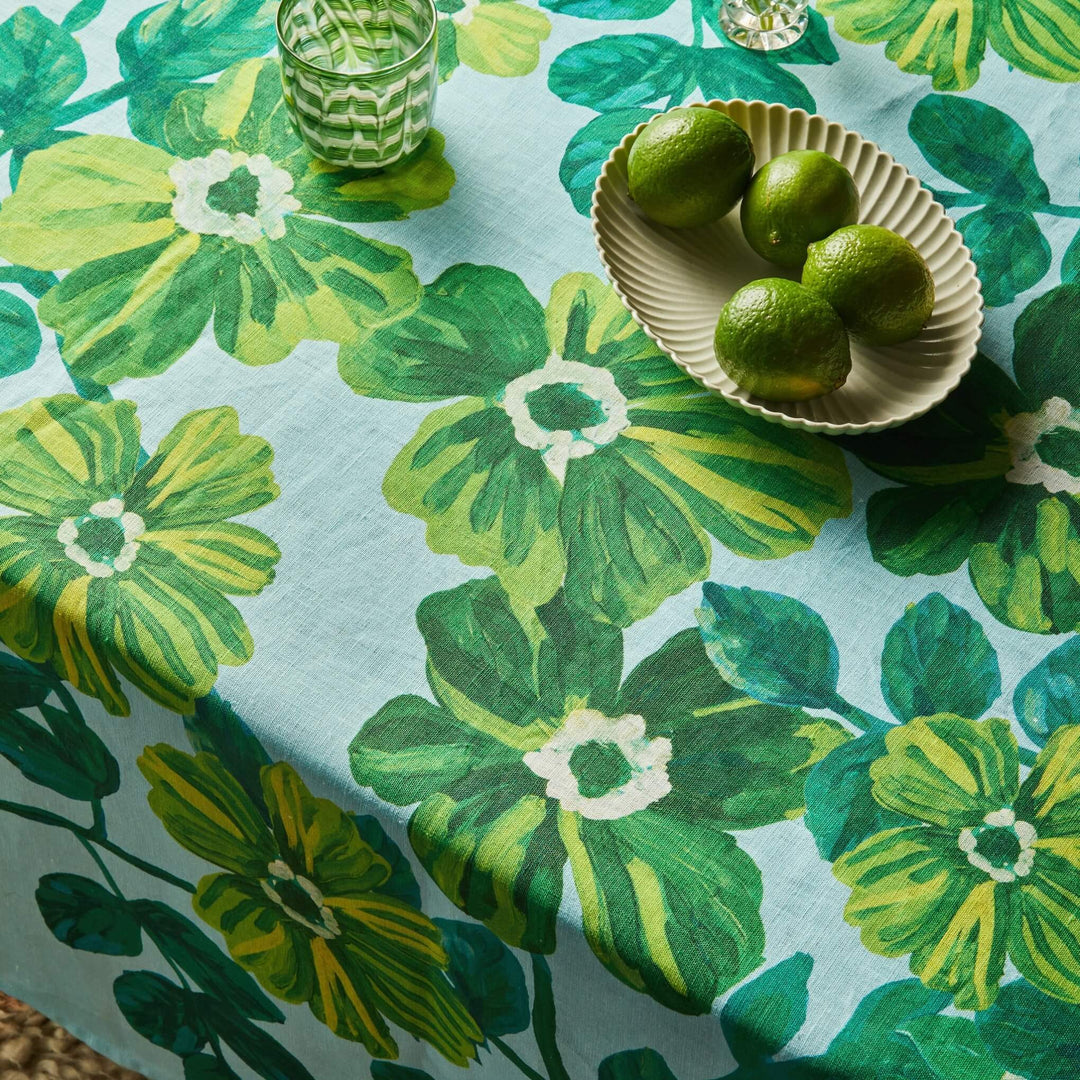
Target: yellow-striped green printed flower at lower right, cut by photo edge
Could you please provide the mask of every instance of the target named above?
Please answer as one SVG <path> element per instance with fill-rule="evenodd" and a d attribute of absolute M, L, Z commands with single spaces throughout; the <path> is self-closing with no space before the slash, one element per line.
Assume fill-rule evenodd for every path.
<path fill-rule="evenodd" d="M 833 867 L 863 944 L 910 955 L 958 1009 L 993 1004 L 1007 956 L 1043 993 L 1080 1001 L 1080 726 L 1058 728 L 1023 783 L 1007 720 L 943 713 L 886 744 L 874 798 L 913 823 Z"/>

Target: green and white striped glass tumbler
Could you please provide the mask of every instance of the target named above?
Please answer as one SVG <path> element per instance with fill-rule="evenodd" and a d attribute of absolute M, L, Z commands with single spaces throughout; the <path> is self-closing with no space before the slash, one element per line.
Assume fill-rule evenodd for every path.
<path fill-rule="evenodd" d="M 435 109 L 436 21 L 432 0 L 281 0 L 285 104 L 316 158 L 380 168 L 420 145 Z"/>

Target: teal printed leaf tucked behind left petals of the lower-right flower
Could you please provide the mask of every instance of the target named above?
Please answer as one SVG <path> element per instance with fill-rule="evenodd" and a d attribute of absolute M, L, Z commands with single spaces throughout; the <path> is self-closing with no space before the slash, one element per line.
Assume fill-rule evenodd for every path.
<path fill-rule="evenodd" d="M 802 820 L 822 859 L 835 862 L 866 837 L 906 824 L 874 798 L 869 767 L 885 753 L 882 733 L 861 735 L 831 751 L 807 777 Z"/>

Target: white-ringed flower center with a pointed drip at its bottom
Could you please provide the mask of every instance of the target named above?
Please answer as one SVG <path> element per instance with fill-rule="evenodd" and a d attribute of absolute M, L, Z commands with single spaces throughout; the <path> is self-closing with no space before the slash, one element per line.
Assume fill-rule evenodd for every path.
<path fill-rule="evenodd" d="M 586 457 L 630 427 L 626 399 L 606 367 L 558 356 L 510 382 L 501 404 L 517 442 L 540 450 L 559 484 L 570 458 Z"/>

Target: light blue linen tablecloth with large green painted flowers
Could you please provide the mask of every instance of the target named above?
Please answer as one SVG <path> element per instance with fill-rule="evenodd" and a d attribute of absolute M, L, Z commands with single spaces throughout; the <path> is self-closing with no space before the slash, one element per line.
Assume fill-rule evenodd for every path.
<path fill-rule="evenodd" d="M 1067 1080 L 1075 0 L 440 0 L 312 160 L 273 3 L 0 19 L 0 986 L 153 1080 Z M 877 140 L 982 353 L 847 440 L 701 390 L 586 219 L 657 107 Z"/>

